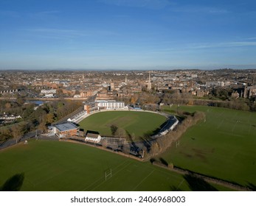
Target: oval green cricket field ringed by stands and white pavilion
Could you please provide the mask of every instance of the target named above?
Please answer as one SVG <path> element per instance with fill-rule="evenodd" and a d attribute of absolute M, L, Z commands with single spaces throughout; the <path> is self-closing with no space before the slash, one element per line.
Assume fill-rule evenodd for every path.
<path fill-rule="evenodd" d="M 80 121 L 80 128 L 100 132 L 100 135 L 111 136 L 111 125 L 127 130 L 136 138 L 151 133 L 165 123 L 165 116 L 156 113 L 135 111 L 111 111 L 95 113 Z"/>

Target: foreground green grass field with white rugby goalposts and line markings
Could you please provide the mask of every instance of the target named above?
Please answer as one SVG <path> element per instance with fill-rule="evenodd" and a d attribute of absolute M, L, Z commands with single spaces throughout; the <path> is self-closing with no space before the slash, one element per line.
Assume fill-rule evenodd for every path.
<path fill-rule="evenodd" d="M 0 163 L 0 187 L 24 174 L 21 191 L 190 191 L 181 174 L 77 143 L 29 141 L 1 151 Z"/>

